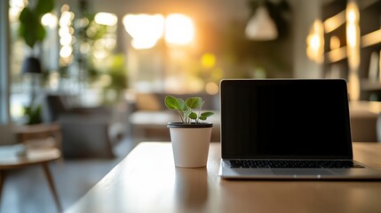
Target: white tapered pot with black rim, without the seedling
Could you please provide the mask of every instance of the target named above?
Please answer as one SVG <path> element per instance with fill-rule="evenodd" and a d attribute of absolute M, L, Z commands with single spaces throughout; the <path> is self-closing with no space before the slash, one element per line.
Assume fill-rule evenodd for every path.
<path fill-rule="evenodd" d="M 208 162 L 213 123 L 184 124 L 169 122 L 175 166 L 197 168 Z"/>

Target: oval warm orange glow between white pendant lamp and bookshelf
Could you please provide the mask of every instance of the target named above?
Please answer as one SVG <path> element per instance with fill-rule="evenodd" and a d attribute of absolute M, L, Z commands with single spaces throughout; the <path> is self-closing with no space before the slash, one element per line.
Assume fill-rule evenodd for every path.
<path fill-rule="evenodd" d="M 306 43 L 307 57 L 314 60 L 316 63 L 321 64 L 324 60 L 324 28 L 321 20 L 314 21 L 313 28 L 311 28 L 310 34 L 307 36 Z"/>

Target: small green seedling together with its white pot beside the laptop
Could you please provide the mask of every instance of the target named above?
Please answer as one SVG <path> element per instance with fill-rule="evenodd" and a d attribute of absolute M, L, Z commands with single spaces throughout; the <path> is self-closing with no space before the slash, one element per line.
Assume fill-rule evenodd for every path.
<path fill-rule="evenodd" d="M 202 112 L 204 101 L 200 97 L 187 100 L 166 96 L 167 108 L 179 113 L 181 122 L 169 122 L 175 166 L 197 168 L 208 161 L 210 135 L 213 123 L 205 120 L 213 112 Z"/>

